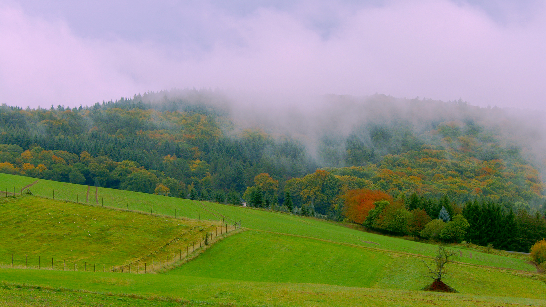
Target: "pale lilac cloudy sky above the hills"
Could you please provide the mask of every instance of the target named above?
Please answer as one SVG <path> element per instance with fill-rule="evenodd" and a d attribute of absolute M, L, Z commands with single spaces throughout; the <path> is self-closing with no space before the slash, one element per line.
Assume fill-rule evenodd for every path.
<path fill-rule="evenodd" d="M 545 110 L 544 54 L 545 1 L 0 0 L 21 107 L 210 88 Z"/>

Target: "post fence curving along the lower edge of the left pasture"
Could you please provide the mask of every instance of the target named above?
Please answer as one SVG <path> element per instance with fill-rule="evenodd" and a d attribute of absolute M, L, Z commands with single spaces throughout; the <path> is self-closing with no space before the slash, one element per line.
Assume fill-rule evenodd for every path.
<path fill-rule="evenodd" d="M 208 238 L 208 240 L 212 240 L 213 238 L 217 238 L 218 237 L 218 228 L 220 228 L 220 232 L 219 232 L 219 235 L 222 236 L 223 234 L 228 234 L 229 232 L 232 232 L 232 231 L 235 231 L 235 230 L 238 230 L 238 229 L 241 229 L 241 221 L 239 222 L 236 222 L 234 224 L 229 224 L 229 230 L 228 230 L 228 224 L 225 225 L 225 231 L 224 231 L 224 225 L 221 225 L 219 227 L 216 228 L 216 235 L 215 235 L 215 230 L 211 230 L 211 233 L 210 233 L 210 237 Z M 118 273 L 136 273 L 136 274 L 140 274 L 140 273 L 149 273 L 149 272 L 154 272 L 154 271 L 157 271 L 158 269 L 161 269 L 162 267 L 167 267 L 169 266 L 169 263 L 174 264 L 176 262 L 176 260 L 178 259 L 178 261 L 181 261 L 183 259 L 186 259 L 187 257 L 189 257 L 191 254 L 194 253 L 195 250 L 199 250 L 199 248 L 201 247 L 204 247 L 205 246 L 205 238 L 204 237 L 201 237 L 200 240 L 199 240 L 199 247 L 197 247 L 197 241 L 193 242 L 194 244 L 192 245 L 186 245 L 186 251 L 185 253 L 183 253 L 183 250 L 182 249 L 179 249 L 179 250 L 175 250 L 173 251 L 173 255 L 172 257 L 170 255 L 167 255 L 163 258 L 159 257 L 158 259 L 152 259 L 152 263 L 149 263 L 149 262 L 144 262 L 144 272 L 141 270 L 141 265 L 143 264 L 143 262 L 141 261 L 133 261 L 131 263 L 129 263 L 128 265 L 118 265 L 118 266 L 115 266 L 115 265 L 112 265 L 112 268 L 110 269 L 110 264 L 108 265 L 108 267 L 106 266 L 106 263 L 91 263 L 91 262 L 88 262 L 88 261 L 79 261 L 79 264 L 78 264 L 78 261 L 75 260 L 73 263 L 72 261 L 68 262 L 66 260 L 62 260 L 62 271 L 81 271 L 81 268 L 83 267 L 84 269 L 84 272 L 97 272 L 97 265 L 99 267 L 99 271 L 100 272 L 100 265 L 102 265 L 102 272 L 106 272 L 107 268 L 108 268 L 108 272 L 112 272 L 112 273 L 115 273 L 115 272 L 118 272 Z M 192 248 L 192 250 L 190 251 L 189 248 Z M 197 248 L 196 248 L 197 247 Z M 22 264 L 22 257 L 21 257 L 21 264 L 20 265 L 16 265 L 16 261 L 14 261 L 14 253 L 11 253 L 11 268 L 21 268 L 23 266 Z M 21 254 L 22 255 L 22 254 Z M 24 264 L 24 268 L 34 268 L 34 269 L 52 269 L 52 270 L 57 270 L 57 271 L 61 271 L 61 260 L 58 260 L 58 261 L 55 261 L 55 257 L 51 257 L 51 262 L 49 261 L 49 257 L 46 258 L 46 261 L 47 261 L 47 265 L 46 266 L 43 266 L 42 263 L 44 263 L 43 260 L 44 258 L 41 256 L 41 255 L 34 255 L 33 256 L 34 258 L 34 261 L 37 261 L 37 262 L 34 262 L 34 266 L 29 266 L 29 256 L 28 254 L 25 254 L 25 264 Z M 171 261 L 172 259 L 172 261 Z M 163 266 L 162 266 L 162 260 L 164 260 L 163 262 Z M 81 265 L 81 262 L 84 262 L 83 266 Z M 51 265 L 50 265 L 51 263 Z M 36 266 L 37 264 L 37 266 Z M 67 265 L 68 264 L 68 265 Z M 70 266 L 72 267 L 72 269 L 69 268 L 69 265 L 72 265 L 73 266 Z M 149 269 L 149 265 L 152 265 L 152 268 L 151 270 Z M 133 266 L 133 269 L 131 268 L 131 266 Z M 134 270 L 136 266 L 136 272 Z M 157 267 L 157 269 L 156 269 Z M 125 268 L 125 271 L 123 271 Z M 131 272 L 133 271 L 133 272 Z"/>

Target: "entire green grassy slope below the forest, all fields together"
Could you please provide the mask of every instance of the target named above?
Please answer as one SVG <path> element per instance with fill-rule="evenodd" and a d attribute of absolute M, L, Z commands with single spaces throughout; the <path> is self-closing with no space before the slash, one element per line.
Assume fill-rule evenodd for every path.
<path fill-rule="evenodd" d="M 13 306 L 546 304 L 546 279 L 523 259 L 461 249 L 445 279 L 461 293 L 427 293 L 419 291 L 430 283 L 422 260 L 433 244 L 286 213 L 0 174 L 0 185 L 8 182 L 33 183 L 36 195 L 19 188 L 0 199 L 0 301 Z M 239 220 L 250 230 L 170 271 L 118 269 L 184 256 L 204 232 Z M 24 254 L 32 268 L 37 256 L 49 266 L 53 257 L 54 270 L 23 269 Z M 76 261 L 78 272 L 63 272 L 62 260 Z M 116 273 L 82 272 L 82 261 L 111 263 Z"/>

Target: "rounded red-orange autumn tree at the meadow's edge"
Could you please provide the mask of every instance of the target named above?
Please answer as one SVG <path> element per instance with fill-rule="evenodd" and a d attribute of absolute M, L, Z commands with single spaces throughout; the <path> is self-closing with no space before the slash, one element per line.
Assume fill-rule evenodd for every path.
<path fill-rule="evenodd" d="M 393 201 L 393 197 L 389 194 L 370 189 L 349 190 L 341 198 L 345 200 L 343 204 L 345 216 L 359 224 L 362 224 L 368 216 L 368 212 L 375 208 L 374 202 Z"/>

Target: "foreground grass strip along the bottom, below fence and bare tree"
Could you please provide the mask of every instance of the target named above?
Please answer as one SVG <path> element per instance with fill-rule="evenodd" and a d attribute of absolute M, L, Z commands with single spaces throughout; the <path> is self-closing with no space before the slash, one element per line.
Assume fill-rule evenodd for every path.
<path fill-rule="evenodd" d="M 15 271 L 15 272 L 14 272 Z M 69 296 L 66 306 L 73 306 L 86 299 L 100 300 L 99 294 L 125 294 L 126 296 L 159 297 L 170 299 L 172 305 L 220 305 L 220 306 L 544 306 L 544 294 L 531 297 L 507 297 L 468 293 L 434 293 L 410 290 L 358 288 L 321 284 L 260 283 L 222 278 L 187 277 L 167 274 L 120 274 L 85 273 L 62 271 L 38 271 L 0 268 L 0 280 L 9 287 L 0 291 L 0 301 L 15 302 L 14 306 L 28 306 L 27 298 L 36 301 L 63 300 Z M 85 289 L 96 292 L 63 293 L 62 291 L 15 290 L 15 284 L 47 285 L 55 289 Z M 15 292 L 21 291 L 21 292 Z M 39 293 L 39 291 L 44 291 Z M 74 293 L 74 292 L 73 292 Z M 132 293 L 132 294 L 129 294 Z M 111 294 L 110 294 L 111 295 Z M 81 299 L 80 299 L 81 297 Z M 88 298 L 92 297 L 92 298 Z M 113 299 L 105 302 L 114 302 Z M 176 300 L 182 302 L 176 302 Z M 174 302 L 173 302 L 174 301 Z M 127 300 L 129 302 L 129 300 Z M 132 302 L 132 301 L 130 301 Z M 149 302 L 149 301 L 148 301 Z M 70 305 L 72 304 L 72 305 Z M 102 303 L 103 305 L 109 305 Z M 55 304 L 51 304 L 55 305 Z M 113 306 L 121 304 L 112 304 Z M 129 305 L 129 304 L 127 304 Z M 136 304 L 135 304 L 136 305 Z M 63 305 L 61 305 L 63 306 Z M 126 306 L 126 305 L 123 305 Z M 131 305 L 132 306 L 132 305 Z M 139 306 L 139 305 L 136 305 Z"/>

